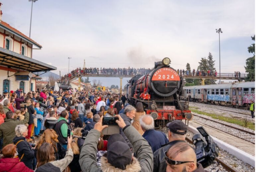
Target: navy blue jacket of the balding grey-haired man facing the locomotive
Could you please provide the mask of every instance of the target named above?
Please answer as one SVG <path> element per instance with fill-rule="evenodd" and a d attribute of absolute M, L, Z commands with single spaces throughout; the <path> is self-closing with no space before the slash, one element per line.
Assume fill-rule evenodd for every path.
<path fill-rule="evenodd" d="M 146 130 L 142 135 L 147 141 L 148 144 L 152 148 L 152 152 L 154 153 L 156 150 L 161 148 L 161 145 L 164 145 L 169 142 L 166 135 L 161 131 L 156 130 Z"/>

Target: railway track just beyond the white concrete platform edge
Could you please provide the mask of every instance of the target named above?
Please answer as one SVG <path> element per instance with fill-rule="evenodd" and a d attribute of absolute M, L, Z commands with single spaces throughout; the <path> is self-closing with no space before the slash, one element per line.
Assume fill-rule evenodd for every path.
<path fill-rule="evenodd" d="M 217 130 L 220 130 L 220 131 L 222 131 L 222 132 L 226 132 L 226 133 L 228 133 L 228 134 L 231 134 L 232 136 L 236 136 L 236 137 L 238 137 L 238 138 L 240 138 L 240 139 L 242 139 L 242 140 L 246 140 L 246 141 L 248 141 L 248 142 L 251 142 L 251 143 L 253 143 L 253 144 L 255 144 L 255 141 L 253 142 L 253 141 L 251 141 L 250 139 L 255 139 L 255 133 L 254 132 L 250 132 L 250 131 L 247 131 L 247 130 L 243 130 L 243 129 L 240 129 L 240 128 L 237 128 L 237 127 L 234 127 L 234 126 L 231 126 L 231 125 L 227 125 L 227 124 L 224 124 L 224 123 L 220 123 L 220 122 L 218 122 L 218 121 L 214 121 L 214 120 L 212 120 L 212 119 L 208 119 L 208 118 L 205 118 L 205 117 L 202 117 L 202 116 L 200 116 L 200 115 L 195 115 L 195 114 L 193 114 L 194 116 L 196 116 L 196 117 L 200 117 L 200 118 L 202 118 L 202 119 L 206 119 L 206 120 L 208 120 L 208 121 L 212 121 L 212 122 L 214 122 L 214 123 L 218 123 L 218 124 L 221 124 L 221 125 L 224 125 L 224 126 L 226 126 L 226 127 L 230 127 L 230 128 L 232 128 L 232 129 L 236 129 L 236 130 L 239 130 L 239 131 L 242 131 L 242 132 L 244 132 L 245 134 L 243 134 L 243 136 L 247 136 L 247 137 L 240 137 L 240 136 L 238 136 L 238 135 L 235 135 L 235 134 L 232 134 L 232 133 L 230 133 L 230 132 L 227 132 L 227 131 L 224 131 L 224 130 L 221 130 L 221 129 L 219 129 L 219 128 L 216 128 L 216 127 L 213 127 L 213 126 L 210 126 L 210 125 L 208 125 L 208 124 L 205 124 L 205 123 L 203 123 L 204 125 L 208 125 L 208 126 L 210 126 L 210 127 L 212 127 L 212 128 L 214 128 L 214 129 L 217 129 Z M 197 123 L 197 121 L 194 121 L 195 123 Z M 200 121 L 201 122 L 201 121 Z M 201 122 L 202 123 L 202 122 Z M 248 135 L 249 134 L 249 135 Z"/>

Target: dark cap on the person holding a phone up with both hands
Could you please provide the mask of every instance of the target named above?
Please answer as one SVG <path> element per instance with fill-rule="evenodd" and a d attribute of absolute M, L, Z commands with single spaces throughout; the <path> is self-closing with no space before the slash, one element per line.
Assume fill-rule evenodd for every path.
<path fill-rule="evenodd" d="M 107 159 L 112 166 L 125 170 L 132 162 L 132 150 L 127 143 L 116 141 L 108 147 Z"/>

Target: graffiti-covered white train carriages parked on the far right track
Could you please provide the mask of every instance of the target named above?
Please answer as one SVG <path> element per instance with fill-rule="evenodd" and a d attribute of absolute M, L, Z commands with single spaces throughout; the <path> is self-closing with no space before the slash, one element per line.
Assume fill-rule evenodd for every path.
<path fill-rule="evenodd" d="M 198 85 L 183 87 L 185 98 L 192 101 L 214 103 L 217 105 L 249 107 L 255 102 L 255 82 Z"/>

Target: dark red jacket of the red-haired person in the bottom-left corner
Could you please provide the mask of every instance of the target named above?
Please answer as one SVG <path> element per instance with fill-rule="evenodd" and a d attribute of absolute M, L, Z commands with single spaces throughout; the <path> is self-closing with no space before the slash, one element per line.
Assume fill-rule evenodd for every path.
<path fill-rule="evenodd" d="M 2 158 L 0 159 L 0 172 L 34 172 L 26 167 L 19 158 Z"/>

